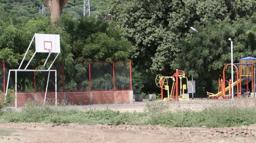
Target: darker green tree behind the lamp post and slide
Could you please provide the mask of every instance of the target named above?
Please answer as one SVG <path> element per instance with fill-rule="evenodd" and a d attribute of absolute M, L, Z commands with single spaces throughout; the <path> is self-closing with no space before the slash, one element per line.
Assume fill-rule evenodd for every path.
<path fill-rule="evenodd" d="M 255 16 L 241 18 L 233 24 L 230 24 L 228 19 L 220 22 L 205 22 L 204 26 L 195 22 L 193 27 L 196 27 L 198 32 L 190 30 L 186 38 L 175 43 L 178 52 L 174 55 L 175 60 L 169 61 L 170 67 L 173 70 L 184 69 L 188 76 L 193 74 L 197 81 L 198 95 L 206 96 L 206 91 L 217 92 L 216 81 L 223 77 L 223 67 L 230 63 L 229 37 L 234 42 L 234 63 L 238 63 L 241 58 L 255 56 L 253 48 L 255 37 L 254 32 L 251 31 L 255 29 L 253 20 Z M 230 79 L 230 67 L 226 72 L 229 73 L 226 78 Z M 214 81 L 215 85 L 212 84 Z"/>

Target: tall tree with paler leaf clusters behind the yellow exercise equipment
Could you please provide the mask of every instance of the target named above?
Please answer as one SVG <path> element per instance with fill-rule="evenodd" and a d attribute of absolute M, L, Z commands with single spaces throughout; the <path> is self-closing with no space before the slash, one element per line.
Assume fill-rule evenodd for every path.
<path fill-rule="evenodd" d="M 195 28 L 225 19 L 227 25 L 232 25 L 238 18 L 251 16 L 255 8 L 255 0 L 110 0 L 109 13 L 122 35 L 135 46 L 133 63 L 147 76 L 143 90 L 154 92 L 159 91 L 154 89 L 155 75 L 174 73 L 175 66 L 170 63 L 182 61 L 176 57 L 181 52 L 176 42 L 191 36 L 190 27 L 195 21 L 199 22 Z"/>

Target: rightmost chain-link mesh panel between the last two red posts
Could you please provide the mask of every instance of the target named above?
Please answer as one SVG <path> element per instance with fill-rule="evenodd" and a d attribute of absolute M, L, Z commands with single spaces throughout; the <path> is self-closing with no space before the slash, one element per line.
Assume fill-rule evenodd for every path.
<path fill-rule="evenodd" d="M 115 62 L 115 89 L 129 90 L 130 85 L 130 62 Z"/>

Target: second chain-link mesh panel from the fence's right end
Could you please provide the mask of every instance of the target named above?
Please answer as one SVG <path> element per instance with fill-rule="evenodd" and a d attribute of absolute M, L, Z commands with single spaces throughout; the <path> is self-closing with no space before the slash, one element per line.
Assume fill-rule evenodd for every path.
<path fill-rule="evenodd" d="M 91 89 L 113 90 L 113 64 L 109 62 L 92 62 Z"/>

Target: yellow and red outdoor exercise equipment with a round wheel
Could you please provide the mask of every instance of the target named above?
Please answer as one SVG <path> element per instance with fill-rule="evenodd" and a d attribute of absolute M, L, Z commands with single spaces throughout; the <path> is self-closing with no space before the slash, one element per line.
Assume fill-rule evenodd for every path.
<path fill-rule="evenodd" d="M 172 89 L 171 94 L 169 94 L 169 85 L 168 85 L 168 79 L 172 79 Z M 180 79 L 180 88 L 179 88 L 179 79 Z M 182 84 L 182 79 L 186 79 L 186 84 Z M 173 74 L 173 76 L 162 76 L 157 75 L 156 76 L 156 85 L 161 88 L 161 98 L 164 101 L 186 101 L 189 100 L 188 97 L 184 97 L 185 90 L 188 88 L 188 81 L 187 77 L 185 76 L 185 72 L 183 70 L 176 69 L 176 73 Z M 168 97 L 163 98 L 163 89 L 167 90 Z M 180 94 L 179 94 L 180 89 Z M 175 94 L 175 98 L 174 98 Z M 172 97 L 170 97 L 172 95 Z"/>

